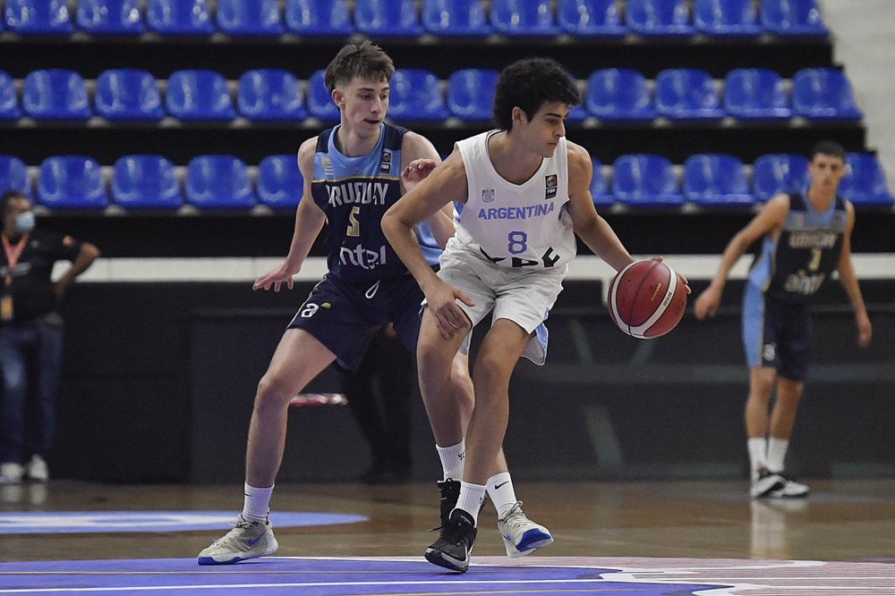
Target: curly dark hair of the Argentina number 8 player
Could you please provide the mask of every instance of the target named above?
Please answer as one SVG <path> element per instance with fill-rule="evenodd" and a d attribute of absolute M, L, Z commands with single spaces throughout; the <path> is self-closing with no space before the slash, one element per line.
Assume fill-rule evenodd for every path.
<path fill-rule="evenodd" d="M 494 91 L 494 122 L 501 130 L 513 128 L 513 108 L 531 120 L 545 103 L 578 105 L 581 94 L 568 72 L 551 58 L 524 58 L 500 73 Z"/>

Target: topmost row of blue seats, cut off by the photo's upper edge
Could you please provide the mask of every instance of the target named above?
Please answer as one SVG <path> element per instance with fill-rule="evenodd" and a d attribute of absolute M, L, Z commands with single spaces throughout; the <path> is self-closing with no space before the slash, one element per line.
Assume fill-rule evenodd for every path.
<path fill-rule="evenodd" d="M 829 34 L 815 0 L 217 0 L 213 11 L 214 5 L 209 0 L 77 0 L 72 19 L 66 0 L 6 0 L 4 25 L 21 35 L 69 35 L 76 27 L 90 35 L 219 31 L 234 37 Z"/>

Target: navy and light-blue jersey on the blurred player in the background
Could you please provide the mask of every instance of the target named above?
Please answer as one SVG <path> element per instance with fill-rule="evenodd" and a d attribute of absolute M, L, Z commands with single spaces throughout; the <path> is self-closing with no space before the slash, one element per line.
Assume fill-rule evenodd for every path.
<path fill-rule="evenodd" d="M 836 197 L 823 213 L 801 193 L 789 195 L 789 213 L 773 239 L 768 234 L 749 272 L 749 283 L 784 302 L 808 303 L 839 264 L 848 224 L 846 202 Z"/>

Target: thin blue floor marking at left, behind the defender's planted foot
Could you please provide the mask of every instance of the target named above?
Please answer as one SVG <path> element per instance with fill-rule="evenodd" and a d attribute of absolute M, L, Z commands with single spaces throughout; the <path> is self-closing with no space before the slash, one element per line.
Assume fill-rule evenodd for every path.
<path fill-rule="evenodd" d="M 234 511 L 41 511 L 0 512 L 0 533 L 187 532 L 233 525 Z M 286 511 L 270 514 L 277 527 L 356 524 L 366 516 Z"/>

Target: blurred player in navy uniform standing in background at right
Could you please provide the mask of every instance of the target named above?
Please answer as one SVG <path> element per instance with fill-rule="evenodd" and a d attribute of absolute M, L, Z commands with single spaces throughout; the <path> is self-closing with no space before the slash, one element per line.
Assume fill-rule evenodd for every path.
<path fill-rule="evenodd" d="M 730 240 L 712 283 L 695 301 L 697 319 L 714 315 L 730 268 L 763 239 L 743 299 L 743 345 L 750 371 L 746 435 L 754 499 L 808 495 L 805 484 L 785 474 L 784 459 L 808 365 L 808 306 L 834 271 L 855 311 L 857 343 L 870 343 L 870 319 L 851 262 L 855 209 L 836 194 L 846 172 L 845 157 L 837 143 L 815 145 L 807 189 L 771 197 Z M 769 416 L 775 383 L 777 400 Z"/>

